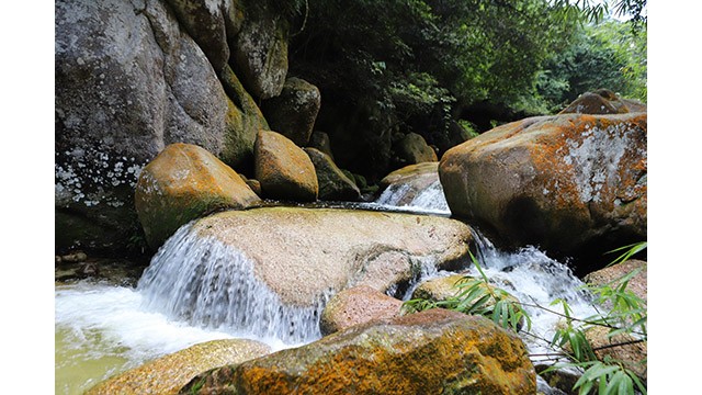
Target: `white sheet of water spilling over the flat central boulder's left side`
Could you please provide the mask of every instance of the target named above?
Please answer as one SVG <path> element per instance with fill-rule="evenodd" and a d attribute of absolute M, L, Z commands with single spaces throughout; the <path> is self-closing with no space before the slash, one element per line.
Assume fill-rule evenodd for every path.
<path fill-rule="evenodd" d="M 137 284 L 141 307 L 190 325 L 287 345 L 321 337 L 319 316 L 330 294 L 291 306 L 258 280 L 241 251 L 191 225 L 181 227 L 152 258 Z"/>

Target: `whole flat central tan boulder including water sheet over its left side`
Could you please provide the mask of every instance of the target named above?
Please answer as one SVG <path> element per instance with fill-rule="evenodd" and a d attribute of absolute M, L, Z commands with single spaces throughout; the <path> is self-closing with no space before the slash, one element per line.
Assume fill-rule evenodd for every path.
<path fill-rule="evenodd" d="M 179 229 L 139 290 L 149 308 L 193 325 L 299 343 L 320 336 L 319 315 L 332 295 L 367 285 L 401 297 L 421 273 L 467 264 L 471 237 L 467 225 L 438 216 L 227 211 Z"/>

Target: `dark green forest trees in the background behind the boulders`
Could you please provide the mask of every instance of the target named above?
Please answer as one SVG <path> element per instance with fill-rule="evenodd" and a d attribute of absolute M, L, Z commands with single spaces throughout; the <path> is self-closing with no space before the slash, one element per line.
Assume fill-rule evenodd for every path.
<path fill-rule="evenodd" d="M 290 72 L 320 89 L 317 127 L 349 151 L 340 165 L 385 171 L 410 132 L 441 154 L 463 126 L 555 112 L 587 90 L 645 100 L 645 4 L 613 2 L 632 30 L 588 0 L 297 0 Z"/>

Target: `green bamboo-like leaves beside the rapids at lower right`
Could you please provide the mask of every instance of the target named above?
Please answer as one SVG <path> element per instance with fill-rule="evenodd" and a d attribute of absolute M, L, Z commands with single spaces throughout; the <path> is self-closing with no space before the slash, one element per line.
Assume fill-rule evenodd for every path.
<path fill-rule="evenodd" d="M 626 261 L 630 257 L 647 247 L 647 242 L 618 248 L 616 251 L 624 251 L 613 262 Z M 483 271 L 479 262 L 471 255 L 473 263 L 480 273 L 479 279 L 465 278 L 456 284 L 458 293 L 454 297 L 444 301 L 410 300 L 405 302 L 405 312 L 418 312 L 428 308 L 449 308 L 465 314 L 483 315 L 491 318 L 496 324 L 506 329 L 517 331 L 522 319 L 528 321 L 526 332 L 530 336 L 531 319 L 529 314 L 522 308 L 522 304 L 509 297 L 509 294 L 498 287 L 489 285 L 489 279 Z M 559 306 L 563 313 L 554 309 L 542 308 L 547 313 L 557 314 L 564 318 L 562 326 L 556 328 L 553 338 L 547 341 L 552 348 L 559 350 L 558 359 L 565 361 L 554 363 L 551 368 L 541 372 L 545 374 L 565 366 L 577 368 L 582 371 L 582 375 L 574 384 L 573 390 L 579 395 L 597 392 L 599 395 L 634 394 L 635 391 L 647 394 L 646 384 L 631 369 L 632 361 L 619 361 L 610 356 L 598 357 L 597 351 L 603 348 L 621 347 L 647 340 L 647 309 L 646 303 L 641 297 L 627 290 L 629 282 L 639 270 L 625 273 L 614 281 L 603 285 L 585 285 L 595 297 L 595 303 L 605 306 L 604 313 L 598 313 L 590 317 L 575 317 L 574 312 L 565 300 L 558 298 L 551 303 L 551 306 Z M 588 340 L 586 332 L 590 328 L 608 328 L 608 338 L 618 335 L 630 335 L 633 340 L 595 348 Z M 544 339 L 545 340 L 545 339 Z M 642 361 L 646 363 L 646 361 Z"/>

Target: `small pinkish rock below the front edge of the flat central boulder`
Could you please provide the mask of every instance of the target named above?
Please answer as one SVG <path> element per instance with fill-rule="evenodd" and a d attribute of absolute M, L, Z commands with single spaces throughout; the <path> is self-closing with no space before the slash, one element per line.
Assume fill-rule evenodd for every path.
<path fill-rule="evenodd" d="M 400 315 L 403 302 L 367 285 L 354 286 L 333 295 L 319 320 L 322 335 L 354 325 Z"/>

